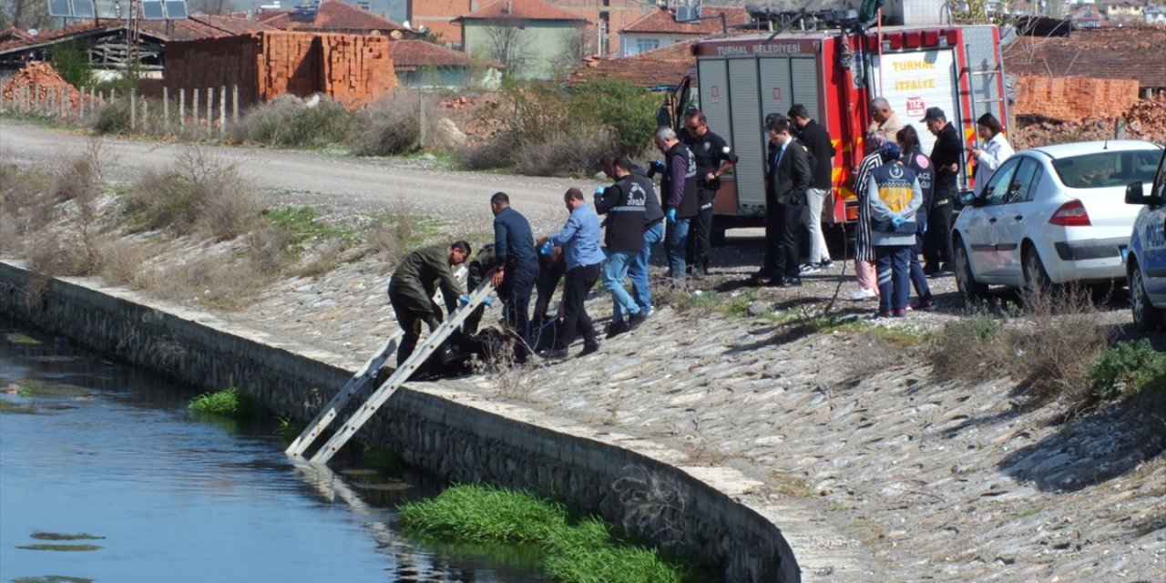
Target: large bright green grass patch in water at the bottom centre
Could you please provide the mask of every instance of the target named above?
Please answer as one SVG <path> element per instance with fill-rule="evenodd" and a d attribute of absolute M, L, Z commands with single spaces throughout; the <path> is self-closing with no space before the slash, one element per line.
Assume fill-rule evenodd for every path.
<path fill-rule="evenodd" d="M 547 575 L 563 583 L 687 583 L 690 566 L 628 543 L 596 518 L 573 524 L 567 507 L 527 492 L 472 484 L 399 508 L 407 529 L 449 542 L 504 542 L 542 549 Z"/>

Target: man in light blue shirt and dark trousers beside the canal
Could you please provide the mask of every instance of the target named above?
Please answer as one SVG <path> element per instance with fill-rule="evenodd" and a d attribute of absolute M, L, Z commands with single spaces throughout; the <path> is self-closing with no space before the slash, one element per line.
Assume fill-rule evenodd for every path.
<path fill-rule="evenodd" d="M 599 350 L 599 339 L 595 325 L 586 314 L 586 293 L 599 279 L 599 264 L 604 260 L 599 248 L 599 216 L 583 199 L 583 191 L 570 188 L 563 195 L 563 203 L 571 216 L 557 233 L 539 239 L 539 245 L 550 244 L 563 248 L 567 261 L 567 283 L 563 288 L 563 324 L 554 347 L 547 353 L 549 358 L 566 358 L 567 346 L 575 339 L 576 332 L 583 336 L 583 351 L 580 356 Z"/>

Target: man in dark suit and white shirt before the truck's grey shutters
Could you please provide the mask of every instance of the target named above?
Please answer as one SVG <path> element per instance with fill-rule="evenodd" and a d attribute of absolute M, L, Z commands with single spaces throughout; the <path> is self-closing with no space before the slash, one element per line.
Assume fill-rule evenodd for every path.
<path fill-rule="evenodd" d="M 771 119 L 766 131 L 773 148 L 765 180 L 765 265 L 749 282 L 798 287 L 798 231 L 810 187 L 809 156 L 791 134 L 788 120 Z"/>

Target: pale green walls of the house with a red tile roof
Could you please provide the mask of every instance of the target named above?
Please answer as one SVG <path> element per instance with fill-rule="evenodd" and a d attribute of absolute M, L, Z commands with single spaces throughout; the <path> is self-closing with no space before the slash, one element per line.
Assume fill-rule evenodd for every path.
<path fill-rule="evenodd" d="M 526 24 L 518 33 L 524 62 L 508 72 L 522 79 L 549 79 L 553 77 L 559 57 L 563 54 L 563 47 L 570 42 L 581 23 L 566 21 L 525 22 Z M 492 26 L 486 21 L 466 21 L 464 28 L 465 51 L 475 57 L 497 61 L 497 56 L 491 55 L 493 45 L 491 35 L 499 29 L 500 27 Z"/>

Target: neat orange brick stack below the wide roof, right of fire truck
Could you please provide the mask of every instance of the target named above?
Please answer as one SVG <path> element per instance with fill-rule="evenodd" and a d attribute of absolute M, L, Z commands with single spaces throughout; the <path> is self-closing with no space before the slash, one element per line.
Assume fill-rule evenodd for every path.
<path fill-rule="evenodd" d="M 1136 79 L 1018 75 L 1016 90 L 1017 115 L 1059 121 L 1118 117 L 1138 100 Z"/>

